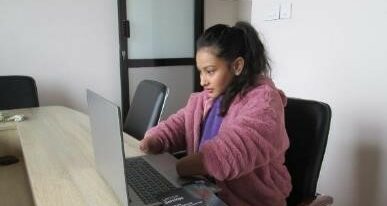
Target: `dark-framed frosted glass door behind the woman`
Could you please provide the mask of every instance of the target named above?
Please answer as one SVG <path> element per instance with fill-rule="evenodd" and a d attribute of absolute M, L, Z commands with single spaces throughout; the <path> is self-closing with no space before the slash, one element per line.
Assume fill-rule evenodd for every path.
<path fill-rule="evenodd" d="M 166 118 L 184 106 L 189 95 L 199 89 L 194 55 L 195 40 L 203 30 L 202 1 L 122 1 L 119 7 L 125 8 L 119 8 L 119 16 L 127 15 L 120 17 L 124 116 L 138 83 L 153 79 L 169 88 L 162 115 Z"/>

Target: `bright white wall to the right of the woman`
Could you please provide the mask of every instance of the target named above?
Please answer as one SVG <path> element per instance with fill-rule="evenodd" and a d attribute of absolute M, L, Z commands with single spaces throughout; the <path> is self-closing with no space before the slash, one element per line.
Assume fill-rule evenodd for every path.
<path fill-rule="evenodd" d="M 387 203 L 387 1 L 293 0 L 290 20 L 252 23 L 288 96 L 327 102 L 333 110 L 318 190 L 334 205 Z"/>

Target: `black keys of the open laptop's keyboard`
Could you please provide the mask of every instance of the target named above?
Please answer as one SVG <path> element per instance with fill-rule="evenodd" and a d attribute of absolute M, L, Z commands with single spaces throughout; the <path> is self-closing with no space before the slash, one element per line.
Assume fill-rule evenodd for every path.
<path fill-rule="evenodd" d="M 158 202 L 157 196 L 176 188 L 143 158 L 125 159 L 126 180 L 145 204 Z"/>

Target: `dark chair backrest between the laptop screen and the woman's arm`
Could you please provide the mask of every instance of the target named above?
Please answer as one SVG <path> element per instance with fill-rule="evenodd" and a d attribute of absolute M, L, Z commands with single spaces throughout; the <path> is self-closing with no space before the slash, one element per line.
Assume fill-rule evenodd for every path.
<path fill-rule="evenodd" d="M 137 86 L 123 130 L 141 140 L 145 132 L 159 123 L 168 88 L 164 84 L 143 80 Z"/>

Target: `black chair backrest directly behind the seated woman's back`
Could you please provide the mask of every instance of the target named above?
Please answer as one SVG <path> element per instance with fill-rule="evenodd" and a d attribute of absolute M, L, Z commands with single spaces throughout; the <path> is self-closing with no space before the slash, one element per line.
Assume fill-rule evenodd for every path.
<path fill-rule="evenodd" d="M 293 190 L 288 206 L 316 195 L 331 121 L 328 104 L 289 98 L 285 107 L 285 125 L 290 139 L 285 164 L 292 177 Z"/>

